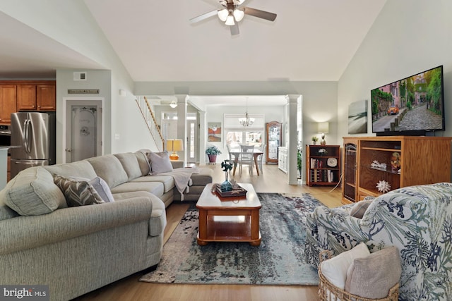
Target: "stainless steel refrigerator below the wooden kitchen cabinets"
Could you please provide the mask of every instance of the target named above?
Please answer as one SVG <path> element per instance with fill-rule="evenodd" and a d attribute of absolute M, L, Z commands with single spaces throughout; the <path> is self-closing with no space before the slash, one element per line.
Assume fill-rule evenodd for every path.
<path fill-rule="evenodd" d="M 11 113 L 11 178 L 32 166 L 56 161 L 55 114 Z"/>

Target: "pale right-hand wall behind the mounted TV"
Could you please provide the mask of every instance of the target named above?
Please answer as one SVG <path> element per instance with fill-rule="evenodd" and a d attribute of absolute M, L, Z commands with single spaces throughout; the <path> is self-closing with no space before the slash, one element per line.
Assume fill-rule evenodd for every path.
<path fill-rule="evenodd" d="M 338 82 L 338 141 L 348 105 L 376 87 L 444 65 L 446 131 L 452 135 L 452 1 L 388 0 Z M 370 102 L 367 135 L 371 133 Z M 443 133 L 436 133 L 442 135 Z"/>

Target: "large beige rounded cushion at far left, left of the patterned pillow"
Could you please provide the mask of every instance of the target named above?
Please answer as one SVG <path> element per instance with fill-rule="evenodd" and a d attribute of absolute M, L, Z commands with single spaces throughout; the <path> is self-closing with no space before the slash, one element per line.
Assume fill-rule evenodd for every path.
<path fill-rule="evenodd" d="M 49 171 L 30 167 L 6 184 L 5 204 L 20 215 L 48 214 L 67 207 L 63 192 L 54 184 Z"/>

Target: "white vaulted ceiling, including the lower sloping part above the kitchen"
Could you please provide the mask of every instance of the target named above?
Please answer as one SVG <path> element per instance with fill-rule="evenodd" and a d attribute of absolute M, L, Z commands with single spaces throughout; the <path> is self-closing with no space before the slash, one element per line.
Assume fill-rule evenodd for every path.
<path fill-rule="evenodd" d="M 37 0 L 40 1 L 40 0 Z M 83 0 L 138 81 L 266 81 L 340 78 L 386 0 L 246 0 L 276 13 L 245 15 L 240 34 L 213 16 L 215 0 Z M 83 22 L 83 20 L 81 20 Z M 0 13 L 0 77 L 49 77 L 56 68 L 102 68 Z M 76 24 L 73 24 L 76 26 Z"/>

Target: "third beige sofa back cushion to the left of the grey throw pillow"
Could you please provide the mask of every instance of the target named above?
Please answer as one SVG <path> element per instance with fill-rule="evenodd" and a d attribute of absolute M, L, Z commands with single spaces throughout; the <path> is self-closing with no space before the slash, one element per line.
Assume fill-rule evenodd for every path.
<path fill-rule="evenodd" d="M 119 159 L 112 154 L 105 154 L 104 156 L 95 156 L 87 159 L 93 166 L 97 176 L 107 182 L 109 188 L 125 183 L 129 180 L 126 171 L 121 165 Z"/>

